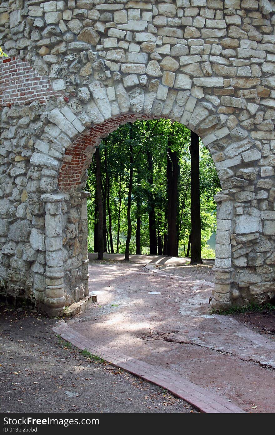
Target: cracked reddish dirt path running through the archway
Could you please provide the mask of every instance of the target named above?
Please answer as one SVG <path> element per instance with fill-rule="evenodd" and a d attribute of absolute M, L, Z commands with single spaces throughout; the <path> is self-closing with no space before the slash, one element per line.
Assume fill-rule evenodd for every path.
<path fill-rule="evenodd" d="M 91 264 L 89 274 L 98 305 L 68 321 L 70 327 L 111 351 L 186 376 L 247 412 L 275 412 L 275 343 L 231 316 L 209 315 L 209 270 L 208 281 L 197 272 L 177 277 L 138 264 Z"/>

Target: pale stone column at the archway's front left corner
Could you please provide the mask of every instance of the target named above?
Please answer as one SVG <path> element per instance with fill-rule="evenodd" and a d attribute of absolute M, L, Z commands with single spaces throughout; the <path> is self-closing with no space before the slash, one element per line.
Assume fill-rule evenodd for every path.
<path fill-rule="evenodd" d="M 44 304 L 50 315 L 60 315 L 66 304 L 63 283 L 63 251 L 62 251 L 62 194 L 43 194 L 41 201 L 45 203 L 46 231 L 46 291 Z"/>

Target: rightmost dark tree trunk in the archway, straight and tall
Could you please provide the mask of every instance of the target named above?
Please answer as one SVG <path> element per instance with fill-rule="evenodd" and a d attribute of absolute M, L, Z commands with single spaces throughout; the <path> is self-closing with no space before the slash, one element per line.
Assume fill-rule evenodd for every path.
<path fill-rule="evenodd" d="M 202 263 L 201 252 L 201 212 L 199 204 L 199 136 L 191 131 L 191 260 L 190 263 Z"/>

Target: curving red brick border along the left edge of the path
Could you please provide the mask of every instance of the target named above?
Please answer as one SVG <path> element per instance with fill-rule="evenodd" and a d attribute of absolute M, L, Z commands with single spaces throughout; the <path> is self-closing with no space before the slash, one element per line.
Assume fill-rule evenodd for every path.
<path fill-rule="evenodd" d="M 63 320 L 53 328 L 53 331 L 64 340 L 70 341 L 77 348 L 87 349 L 92 354 L 100 355 L 101 358 L 115 367 L 122 368 L 145 381 L 166 388 L 173 395 L 198 408 L 200 412 L 207 414 L 246 413 L 238 406 L 228 402 L 225 398 L 193 384 L 183 376 L 173 375 L 171 372 L 162 370 L 162 368 L 157 366 L 119 354 L 118 352 L 113 353 L 113 351 L 102 345 L 94 344 L 91 340 L 67 325 Z"/>

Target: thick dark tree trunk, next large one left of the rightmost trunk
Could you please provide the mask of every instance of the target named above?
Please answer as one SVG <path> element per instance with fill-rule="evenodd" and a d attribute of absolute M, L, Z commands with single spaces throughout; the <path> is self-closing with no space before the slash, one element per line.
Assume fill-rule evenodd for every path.
<path fill-rule="evenodd" d="M 178 256 L 177 243 L 177 216 L 178 216 L 178 182 L 179 182 L 179 157 L 176 151 L 169 147 L 167 154 L 167 213 L 168 213 L 168 234 L 166 255 Z"/>

